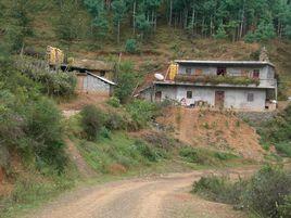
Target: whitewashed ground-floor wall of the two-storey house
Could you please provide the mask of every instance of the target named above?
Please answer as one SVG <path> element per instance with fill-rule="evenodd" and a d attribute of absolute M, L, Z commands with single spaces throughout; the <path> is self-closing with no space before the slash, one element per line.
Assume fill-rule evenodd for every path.
<path fill-rule="evenodd" d="M 225 91 L 225 108 L 264 111 L 266 105 L 266 90 L 264 89 L 157 86 L 155 91 L 162 91 L 162 100 L 168 98 L 180 102 L 186 99 L 187 105 L 194 104 L 197 101 L 204 101 L 215 106 L 216 91 Z M 187 91 L 192 91 L 192 99 L 187 99 Z M 146 90 L 141 95 L 151 101 L 151 93 L 154 100 L 154 92 L 151 90 Z M 248 102 L 248 93 L 253 93 L 253 102 Z"/>

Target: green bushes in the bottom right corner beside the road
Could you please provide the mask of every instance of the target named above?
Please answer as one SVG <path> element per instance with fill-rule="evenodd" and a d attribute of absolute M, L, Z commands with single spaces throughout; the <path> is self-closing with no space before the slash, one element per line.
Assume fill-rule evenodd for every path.
<path fill-rule="evenodd" d="M 203 177 L 193 184 L 193 192 L 207 198 L 237 205 L 260 217 L 289 217 L 291 174 L 279 167 L 265 166 L 251 179 L 237 182 L 226 177 Z"/>

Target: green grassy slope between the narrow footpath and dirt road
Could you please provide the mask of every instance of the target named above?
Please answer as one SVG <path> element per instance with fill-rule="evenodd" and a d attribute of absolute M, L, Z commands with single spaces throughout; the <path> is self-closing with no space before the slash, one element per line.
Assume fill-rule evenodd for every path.
<path fill-rule="evenodd" d="M 166 157 L 162 149 L 123 132 L 112 133 L 110 138 L 102 137 L 98 142 L 78 141 L 78 149 L 86 161 L 102 174 L 125 172 Z"/>

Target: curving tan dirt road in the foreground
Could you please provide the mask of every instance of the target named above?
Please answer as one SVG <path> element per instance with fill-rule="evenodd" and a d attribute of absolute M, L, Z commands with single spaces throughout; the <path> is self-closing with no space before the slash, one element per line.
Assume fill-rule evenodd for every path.
<path fill-rule="evenodd" d="M 231 206 L 190 194 L 193 181 L 208 174 L 230 177 L 254 169 L 198 170 L 156 178 L 130 179 L 66 193 L 25 217 L 33 218 L 230 218 L 246 217 Z"/>

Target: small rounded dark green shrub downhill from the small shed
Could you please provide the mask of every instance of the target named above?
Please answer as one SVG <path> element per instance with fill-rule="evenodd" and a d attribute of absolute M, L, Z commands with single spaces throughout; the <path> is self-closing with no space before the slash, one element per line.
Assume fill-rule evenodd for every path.
<path fill-rule="evenodd" d="M 105 115 L 94 105 L 85 106 L 81 112 L 81 127 L 89 140 L 96 140 L 104 125 Z"/>

